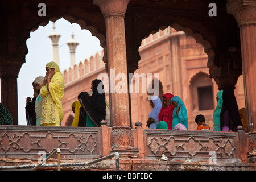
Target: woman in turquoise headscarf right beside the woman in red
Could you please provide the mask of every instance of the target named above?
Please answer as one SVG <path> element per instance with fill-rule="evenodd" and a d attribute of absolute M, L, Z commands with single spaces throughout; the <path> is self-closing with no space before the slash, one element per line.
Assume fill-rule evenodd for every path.
<path fill-rule="evenodd" d="M 179 96 L 174 96 L 171 99 L 174 112 L 172 113 L 172 129 L 175 129 L 177 124 L 182 124 L 188 130 L 188 115 L 187 109 Z"/>

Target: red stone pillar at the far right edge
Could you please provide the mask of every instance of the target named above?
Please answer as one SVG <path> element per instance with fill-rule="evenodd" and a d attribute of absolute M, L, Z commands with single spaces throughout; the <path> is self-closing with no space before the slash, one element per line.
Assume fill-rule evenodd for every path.
<path fill-rule="evenodd" d="M 256 161 L 256 0 L 229 0 L 228 13 L 240 28 L 246 118 L 249 125 L 250 162 Z"/>

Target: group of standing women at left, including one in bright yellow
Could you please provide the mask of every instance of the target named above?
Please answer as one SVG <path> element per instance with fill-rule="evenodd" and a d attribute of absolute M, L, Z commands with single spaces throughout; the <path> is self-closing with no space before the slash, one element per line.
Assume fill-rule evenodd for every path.
<path fill-rule="evenodd" d="M 64 78 L 59 65 L 46 64 L 46 75 L 37 77 L 33 84 L 34 98 L 27 98 L 26 118 L 28 125 L 60 126 L 64 113 L 61 99 L 64 96 Z"/>

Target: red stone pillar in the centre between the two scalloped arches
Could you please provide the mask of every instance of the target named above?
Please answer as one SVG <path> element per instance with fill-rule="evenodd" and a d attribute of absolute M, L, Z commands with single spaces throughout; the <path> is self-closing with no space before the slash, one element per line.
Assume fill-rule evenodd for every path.
<path fill-rule="evenodd" d="M 100 7 L 106 22 L 108 73 L 110 76 L 110 119 L 113 122 L 110 153 L 119 152 L 122 156 L 134 157 L 138 156 L 138 148 L 134 147 L 134 138 L 130 127 L 124 20 L 129 1 L 94 0 L 93 3 Z M 117 76 L 126 76 L 126 79 L 122 80 L 123 83 L 126 83 L 121 86 L 122 92 L 118 92 L 116 88 L 122 79 L 116 80 Z"/>

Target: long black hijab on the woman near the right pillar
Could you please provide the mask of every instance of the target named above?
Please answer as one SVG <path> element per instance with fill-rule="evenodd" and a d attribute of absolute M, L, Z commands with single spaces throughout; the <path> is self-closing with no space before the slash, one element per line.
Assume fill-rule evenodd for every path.
<path fill-rule="evenodd" d="M 238 112 L 238 105 L 236 101 L 236 97 L 234 96 L 234 90 L 225 89 L 222 93 L 222 109 L 220 114 L 220 124 L 221 129 L 224 126 L 224 113 L 225 111 L 229 111 L 229 120 L 233 121 L 233 125 L 229 122 L 229 129 L 236 129 L 237 126 L 242 126 L 242 121 Z"/>

